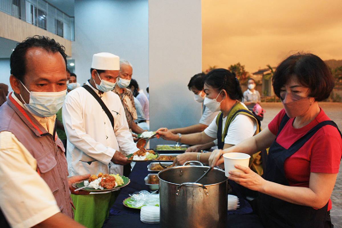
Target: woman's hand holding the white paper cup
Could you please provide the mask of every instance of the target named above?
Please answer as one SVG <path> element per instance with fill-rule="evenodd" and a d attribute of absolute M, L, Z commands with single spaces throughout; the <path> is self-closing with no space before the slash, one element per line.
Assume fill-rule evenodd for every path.
<path fill-rule="evenodd" d="M 257 173 L 254 173 L 249 167 L 235 165 L 235 168 L 243 171 L 244 173 L 229 171 L 228 179 L 234 180 L 239 185 L 242 185 L 251 190 L 262 192 L 267 183 L 267 180 L 259 176 Z"/>

